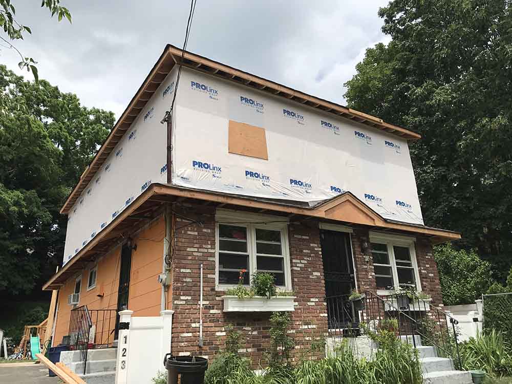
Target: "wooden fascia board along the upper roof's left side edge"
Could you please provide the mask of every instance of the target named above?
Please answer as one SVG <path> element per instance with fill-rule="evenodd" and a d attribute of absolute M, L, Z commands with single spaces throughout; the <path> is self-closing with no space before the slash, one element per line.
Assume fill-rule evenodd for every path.
<path fill-rule="evenodd" d="M 112 131 L 110 131 L 109 136 L 105 139 L 105 141 L 103 142 L 103 144 L 99 148 L 98 152 L 96 153 L 96 156 L 94 156 L 93 161 L 89 164 L 89 166 L 86 168 L 86 170 L 84 170 L 83 174 L 80 176 L 80 180 L 77 182 L 77 184 L 75 185 L 75 187 L 73 188 L 73 190 L 69 194 L 68 198 L 66 199 L 66 202 L 62 205 L 62 208 L 60 208 L 60 214 L 67 214 L 69 212 L 69 210 L 71 209 L 70 202 L 73 199 L 73 197 L 75 195 L 77 195 L 77 192 L 78 192 L 80 186 L 83 183 L 86 182 L 86 180 L 85 180 L 86 176 L 89 176 L 89 179 L 88 179 L 89 181 L 93 178 L 93 175 L 90 175 L 91 168 L 93 168 L 96 164 L 98 164 L 97 168 L 100 167 L 99 161 L 104 161 L 104 159 L 100 159 L 103 151 L 108 150 L 108 148 L 110 148 L 110 144 L 112 143 L 112 140 L 114 140 L 114 138 L 116 138 L 116 133 L 119 130 L 119 127 L 123 123 L 125 123 L 125 119 L 130 116 L 133 107 L 139 101 L 141 96 L 146 92 L 146 87 L 148 87 L 151 84 L 151 81 L 153 80 L 153 77 L 158 73 L 159 69 L 163 66 L 164 62 L 168 58 L 170 58 L 170 52 L 168 50 L 164 50 L 162 52 L 162 54 L 160 55 L 159 60 L 153 66 L 153 69 L 147 75 L 146 79 L 144 80 L 144 82 L 140 86 L 139 90 L 137 91 L 135 96 L 132 98 L 132 100 L 130 101 L 130 103 L 128 104 L 126 109 L 124 110 L 124 112 L 121 115 L 121 117 L 117 120 L 117 122 L 114 125 Z M 172 66 L 170 67 L 169 72 L 170 72 L 170 70 L 172 70 Z M 138 113 L 137 113 L 137 115 L 138 115 Z M 130 123 L 132 123 L 132 122 L 133 122 L 133 120 Z M 127 131 L 127 127 L 126 128 L 122 128 L 122 129 L 125 132 Z M 123 133 L 123 135 L 124 135 L 124 133 Z M 119 140 L 121 137 L 122 137 L 122 135 L 118 136 L 117 140 Z M 114 144 L 114 147 L 115 147 L 116 144 L 117 144 L 117 142 Z M 84 189 L 84 187 L 85 186 L 82 187 L 82 190 Z"/>

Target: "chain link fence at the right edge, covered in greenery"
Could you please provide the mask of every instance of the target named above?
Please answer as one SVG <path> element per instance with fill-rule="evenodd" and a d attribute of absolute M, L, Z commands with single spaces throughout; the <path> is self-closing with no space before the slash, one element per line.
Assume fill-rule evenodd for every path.
<path fill-rule="evenodd" d="M 482 295 L 485 330 L 501 331 L 512 345 L 512 292 Z"/>

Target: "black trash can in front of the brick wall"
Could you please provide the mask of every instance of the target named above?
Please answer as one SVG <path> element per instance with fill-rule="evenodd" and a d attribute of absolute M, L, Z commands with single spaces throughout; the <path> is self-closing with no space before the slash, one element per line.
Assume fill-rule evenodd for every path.
<path fill-rule="evenodd" d="M 203 384 L 208 360 L 199 356 L 173 356 L 167 353 L 163 358 L 167 370 L 167 384 Z"/>

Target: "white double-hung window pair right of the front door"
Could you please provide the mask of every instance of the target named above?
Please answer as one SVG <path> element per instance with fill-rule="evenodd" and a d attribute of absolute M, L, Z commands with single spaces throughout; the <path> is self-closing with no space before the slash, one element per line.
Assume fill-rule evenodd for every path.
<path fill-rule="evenodd" d="M 421 290 L 414 239 L 370 233 L 377 289 Z"/>

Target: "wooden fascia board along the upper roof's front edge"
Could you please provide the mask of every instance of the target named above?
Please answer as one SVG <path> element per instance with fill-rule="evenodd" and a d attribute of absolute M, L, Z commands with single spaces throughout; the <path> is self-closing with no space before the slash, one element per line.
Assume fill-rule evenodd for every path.
<path fill-rule="evenodd" d="M 169 52 L 171 52 L 173 55 L 177 55 L 177 56 L 182 56 L 182 53 L 183 53 L 183 51 L 180 50 L 179 48 L 172 47 L 172 46 L 169 46 Z M 247 81 L 247 84 L 250 82 L 253 82 L 253 83 L 258 84 L 260 87 L 262 87 L 262 89 L 270 88 L 272 90 L 275 90 L 276 93 L 284 93 L 284 94 L 290 95 L 289 98 L 292 98 L 292 97 L 301 98 L 303 100 L 306 100 L 305 102 L 309 101 L 311 103 L 321 105 L 324 108 L 328 109 L 329 111 L 335 111 L 335 112 L 338 112 L 341 114 L 347 114 L 347 115 L 351 115 L 351 116 L 360 117 L 364 120 L 370 120 L 370 121 L 372 121 L 372 123 L 375 123 L 377 125 L 382 125 L 383 127 L 387 127 L 389 129 L 395 130 L 397 132 L 401 132 L 403 135 L 407 135 L 409 137 L 409 139 L 420 139 L 421 138 L 421 135 L 419 135 L 415 132 L 409 131 L 409 130 L 402 128 L 400 126 L 397 126 L 397 125 L 386 123 L 385 121 L 383 121 L 382 119 L 379 119 L 378 117 L 371 116 L 371 115 L 368 115 L 368 114 L 365 114 L 365 113 L 362 113 L 359 111 L 355 111 L 355 110 L 352 110 L 349 108 L 345 108 L 341 105 L 337 105 L 337 104 L 331 103 L 329 101 L 322 100 L 317 97 L 305 94 L 303 92 L 293 90 L 291 88 L 282 86 L 281 84 L 275 83 L 270 80 L 263 79 L 258 76 L 251 75 L 247 72 L 243 72 L 243 71 L 237 70 L 235 68 L 223 65 L 219 62 L 212 61 L 205 57 L 201 57 L 201 56 L 198 56 L 193 53 L 186 52 L 186 51 L 185 51 L 185 54 L 183 57 L 185 59 L 195 61 L 202 65 L 214 68 L 217 72 L 222 71 L 222 72 L 228 73 L 232 76 L 232 78 L 240 77 L 242 79 L 245 79 Z M 194 68 L 194 67 L 191 67 L 191 68 Z M 215 75 L 215 73 L 212 73 L 212 75 Z M 229 80 L 229 79 L 226 79 L 226 80 Z"/>

